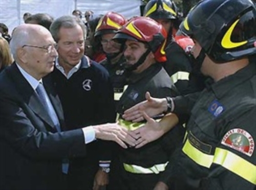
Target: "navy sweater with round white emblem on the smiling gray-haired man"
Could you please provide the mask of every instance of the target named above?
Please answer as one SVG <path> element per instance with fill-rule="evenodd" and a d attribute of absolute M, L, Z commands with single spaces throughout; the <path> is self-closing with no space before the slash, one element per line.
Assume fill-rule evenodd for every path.
<path fill-rule="evenodd" d="M 54 81 L 68 130 L 115 122 L 114 91 L 103 66 L 84 56 L 80 68 L 69 79 L 56 67 L 48 76 Z M 85 88 L 89 81 L 90 88 Z M 90 156 L 70 159 L 68 179 L 72 189 L 92 189 L 99 160 L 111 159 L 110 147 L 109 141 L 94 141 L 87 145 Z"/>

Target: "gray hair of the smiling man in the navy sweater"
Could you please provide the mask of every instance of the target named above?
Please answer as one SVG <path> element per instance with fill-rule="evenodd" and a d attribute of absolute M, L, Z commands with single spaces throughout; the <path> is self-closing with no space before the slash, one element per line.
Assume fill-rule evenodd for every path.
<path fill-rule="evenodd" d="M 61 16 L 54 20 L 50 26 L 50 32 L 52 34 L 53 39 L 56 42 L 59 41 L 59 30 L 61 27 L 70 29 L 74 28 L 77 24 L 81 26 L 83 36 L 86 37 L 86 26 L 80 18 L 77 18 L 75 16 Z"/>

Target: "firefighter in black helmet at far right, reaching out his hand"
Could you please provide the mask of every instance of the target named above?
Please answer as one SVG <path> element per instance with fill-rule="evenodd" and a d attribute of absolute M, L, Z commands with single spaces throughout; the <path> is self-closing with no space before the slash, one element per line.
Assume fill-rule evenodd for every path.
<path fill-rule="evenodd" d="M 165 170 L 168 174 L 156 189 L 164 184 L 161 189 L 167 189 L 166 184 L 173 183 L 172 189 L 177 190 L 254 190 L 256 8 L 250 0 L 204 0 L 190 11 L 180 30 L 195 40 L 191 51 L 202 73 L 213 80 L 200 94 L 185 99 L 148 96 L 150 101 L 123 116 L 135 116 L 138 107 L 151 108 L 153 113 L 153 105 L 158 107 L 154 113 L 166 111 L 167 107 L 176 115 L 191 113 L 183 146 L 172 157 L 176 164 Z M 148 109 L 144 111 L 149 113 Z M 173 122 L 170 116 L 162 121 Z M 162 126 L 162 121 L 147 120 L 153 128 Z M 147 142 L 157 138 L 146 137 L 150 130 L 135 132 Z"/>

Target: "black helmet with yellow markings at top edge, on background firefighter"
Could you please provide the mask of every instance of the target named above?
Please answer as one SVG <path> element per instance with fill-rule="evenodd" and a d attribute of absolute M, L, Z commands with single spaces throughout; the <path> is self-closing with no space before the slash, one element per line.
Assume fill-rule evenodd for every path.
<path fill-rule="evenodd" d="M 175 3 L 170 0 L 151 0 L 145 8 L 143 16 L 156 19 L 177 19 L 178 11 Z"/>

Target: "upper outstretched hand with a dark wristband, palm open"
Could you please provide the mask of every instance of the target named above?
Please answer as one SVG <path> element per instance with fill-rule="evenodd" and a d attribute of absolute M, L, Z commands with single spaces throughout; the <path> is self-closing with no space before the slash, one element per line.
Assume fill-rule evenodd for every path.
<path fill-rule="evenodd" d="M 167 109 L 165 98 L 153 98 L 149 92 L 145 94 L 145 101 L 142 101 L 124 112 L 122 118 L 126 121 L 140 122 L 144 120 L 143 112 L 154 117 Z"/>

